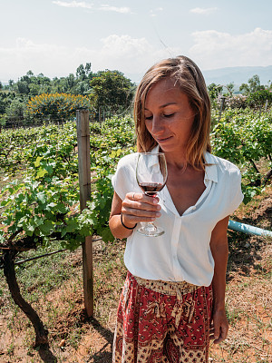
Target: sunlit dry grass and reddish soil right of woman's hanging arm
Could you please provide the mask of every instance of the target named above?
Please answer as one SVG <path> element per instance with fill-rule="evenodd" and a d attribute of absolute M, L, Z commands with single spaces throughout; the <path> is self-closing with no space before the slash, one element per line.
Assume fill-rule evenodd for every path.
<path fill-rule="evenodd" d="M 258 250 L 257 239 L 256 243 Z M 252 243 L 250 249 L 254 248 Z M 238 269 L 228 275 L 226 304 L 230 329 L 226 341 L 219 347 L 212 346 L 213 362 L 272 361 L 272 248 L 268 240 L 257 255 L 259 269 L 249 268 L 247 273 Z"/>

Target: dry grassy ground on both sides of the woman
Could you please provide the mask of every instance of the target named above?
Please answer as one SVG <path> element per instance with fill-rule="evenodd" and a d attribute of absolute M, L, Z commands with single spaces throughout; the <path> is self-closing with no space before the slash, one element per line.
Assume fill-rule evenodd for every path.
<path fill-rule="evenodd" d="M 257 201 L 240 208 L 236 220 L 271 230 L 269 192 L 271 189 Z M 229 245 L 226 302 L 230 329 L 226 341 L 211 346 L 210 361 L 270 363 L 271 239 L 229 232 Z M 88 319 L 83 309 L 81 250 L 62 252 L 18 268 L 24 296 L 32 301 L 49 329 L 50 349 L 31 348 L 33 328 L 15 307 L 1 279 L 0 362 L 110 363 L 115 311 L 126 274 L 123 250 L 122 242 L 108 246 L 95 242 L 94 319 Z"/>

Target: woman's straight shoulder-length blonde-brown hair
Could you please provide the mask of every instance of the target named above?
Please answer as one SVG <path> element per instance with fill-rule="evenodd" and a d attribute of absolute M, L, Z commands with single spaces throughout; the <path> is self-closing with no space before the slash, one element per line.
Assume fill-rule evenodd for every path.
<path fill-rule="evenodd" d="M 192 130 L 186 149 L 187 163 L 195 169 L 204 169 L 204 153 L 210 152 L 210 101 L 207 86 L 199 67 L 184 55 L 169 58 L 154 64 L 144 74 L 134 98 L 134 122 L 138 152 L 150 152 L 158 143 L 145 125 L 144 108 L 151 86 L 161 79 L 172 78 L 187 94 L 189 105 L 195 113 Z"/>

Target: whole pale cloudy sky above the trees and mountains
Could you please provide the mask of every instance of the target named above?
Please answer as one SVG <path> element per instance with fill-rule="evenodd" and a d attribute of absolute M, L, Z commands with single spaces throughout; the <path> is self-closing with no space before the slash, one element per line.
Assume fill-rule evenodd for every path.
<path fill-rule="evenodd" d="M 202 71 L 272 65 L 271 0 L 0 0 L 0 81 L 150 66 L 189 56 Z"/>

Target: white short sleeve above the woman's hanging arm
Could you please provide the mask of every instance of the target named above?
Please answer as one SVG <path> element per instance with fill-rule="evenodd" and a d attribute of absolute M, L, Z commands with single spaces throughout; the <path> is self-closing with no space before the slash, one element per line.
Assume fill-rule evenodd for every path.
<path fill-rule="evenodd" d="M 238 206 L 244 199 L 244 195 L 241 191 L 241 173 L 238 168 L 230 169 L 228 174 L 228 211 L 230 215 L 238 209 Z"/>

